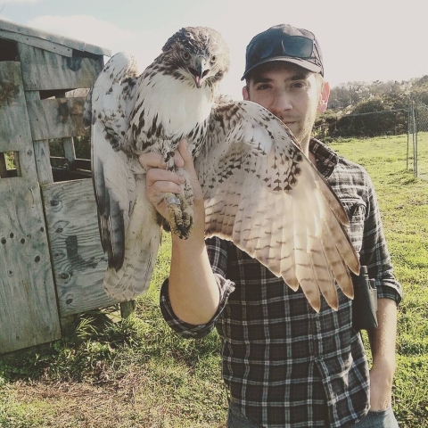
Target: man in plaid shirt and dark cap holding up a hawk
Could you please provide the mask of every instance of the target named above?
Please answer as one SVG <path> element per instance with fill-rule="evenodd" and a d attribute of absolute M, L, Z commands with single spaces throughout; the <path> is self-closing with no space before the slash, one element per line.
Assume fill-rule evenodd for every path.
<path fill-rule="evenodd" d="M 176 164 L 192 177 L 194 229 L 187 241 L 172 236 L 162 313 L 183 337 L 217 328 L 230 394 L 229 427 L 396 427 L 391 384 L 400 286 L 366 171 L 311 138 L 330 92 L 317 38 L 289 25 L 260 33 L 247 47 L 243 78 L 243 98 L 284 121 L 348 212 L 350 239 L 379 294 L 379 327 L 370 334 L 373 366 L 369 372 L 361 338 L 352 329 L 352 301 L 340 290 L 337 312 L 323 300 L 316 313 L 301 290 L 292 292 L 233 243 L 204 242 L 202 191 L 185 142 Z M 181 178 L 166 171 L 157 154 L 144 154 L 140 161 L 151 168 L 147 196 L 165 217 L 161 194 L 181 192 Z"/>

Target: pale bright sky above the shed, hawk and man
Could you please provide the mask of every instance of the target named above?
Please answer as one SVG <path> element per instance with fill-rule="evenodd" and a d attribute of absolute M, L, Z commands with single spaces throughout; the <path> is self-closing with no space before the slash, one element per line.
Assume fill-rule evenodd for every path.
<path fill-rule="evenodd" d="M 394 5 L 394 4 L 397 5 Z M 217 29 L 229 46 L 224 94 L 242 98 L 245 47 L 280 23 L 309 29 L 331 86 L 428 74 L 424 0 L 0 0 L 0 19 L 132 53 L 141 70 L 187 26 Z"/>

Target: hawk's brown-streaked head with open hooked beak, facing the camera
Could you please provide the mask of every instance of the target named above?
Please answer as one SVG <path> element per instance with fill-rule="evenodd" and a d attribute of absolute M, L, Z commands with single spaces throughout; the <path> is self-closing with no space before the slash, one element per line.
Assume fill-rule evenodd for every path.
<path fill-rule="evenodd" d="M 207 27 L 186 27 L 162 48 L 167 72 L 191 85 L 216 84 L 229 69 L 229 49 L 223 37 Z"/>

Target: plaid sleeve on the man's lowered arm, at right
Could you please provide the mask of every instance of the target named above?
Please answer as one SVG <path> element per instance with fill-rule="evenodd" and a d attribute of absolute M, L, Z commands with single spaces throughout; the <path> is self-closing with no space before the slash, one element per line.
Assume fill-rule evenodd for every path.
<path fill-rule="evenodd" d="M 361 265 L 366 265 L 368 276 L 374 278 L 377 295 L 381 299 L 395 300 L 402 297 L 401 285 L 393 274 L 391 256 L 388 251 L 379 205 L 371 178 L 366 174 L 367 205 L 363 243 L 360 251 Z"/>

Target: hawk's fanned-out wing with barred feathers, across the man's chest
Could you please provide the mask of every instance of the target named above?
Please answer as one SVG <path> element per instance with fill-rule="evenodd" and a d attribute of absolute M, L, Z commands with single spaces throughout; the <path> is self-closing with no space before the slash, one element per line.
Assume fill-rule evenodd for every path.
<path fill-rule="evenodd" d="M 320 309 L 338 308 L 334 279 L 353 297 L 359 260 L 342 203 L 284 123 L 251 102 L 219 104 L 195 161 L 206 235 L 233 241 Z"/>

